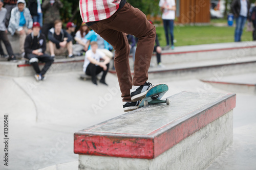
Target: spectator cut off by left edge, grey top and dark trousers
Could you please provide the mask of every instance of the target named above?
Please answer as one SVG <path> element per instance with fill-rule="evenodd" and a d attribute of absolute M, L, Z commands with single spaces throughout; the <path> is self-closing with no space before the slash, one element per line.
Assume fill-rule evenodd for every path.
<path fill-rule="evenodd" d="M 5 19 L 6 19 L 7 10 L 5 8 L 3 8 L 3 5 L 4 5 L 4 1 L 1 0 L 0 1 L 0 40 L 2 40 L 5 44 L 6 51 L 9 55 L 8 61 L 16 60 L 16 57 L 14 56 L 13 51 L 12 51 L 12 46 L 7 37 L 7 30 L 5 27 Z M 1 55 L 1 57 L 5 56 L 1 41 L 0 41 L 0 55 Z"/>

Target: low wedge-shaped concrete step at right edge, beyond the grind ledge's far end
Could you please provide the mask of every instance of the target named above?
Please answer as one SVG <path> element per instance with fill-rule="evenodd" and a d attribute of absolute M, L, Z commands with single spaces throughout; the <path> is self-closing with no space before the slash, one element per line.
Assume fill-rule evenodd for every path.
<path fill-rule="evenodd" d="M 225 76 L 219 79 L 203 79 L 201 81 L 225 91 L 256 94 L 256 73 Z"/>

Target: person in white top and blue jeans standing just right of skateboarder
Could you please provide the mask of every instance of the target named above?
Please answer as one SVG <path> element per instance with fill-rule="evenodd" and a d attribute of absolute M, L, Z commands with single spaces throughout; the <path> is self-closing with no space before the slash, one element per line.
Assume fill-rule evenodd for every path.
<path fill-rule="evenodd" d="M 161 8 L 163 27 L 166 38 L 166 48 L 169 48 L 171 43 L 172 50 L 174 50 L 174 20 L 176 4 L 175 0 L 160 0 L 159 7 Z M 170 33 L 170 43 L 169 43 L 169 33 Z"/>

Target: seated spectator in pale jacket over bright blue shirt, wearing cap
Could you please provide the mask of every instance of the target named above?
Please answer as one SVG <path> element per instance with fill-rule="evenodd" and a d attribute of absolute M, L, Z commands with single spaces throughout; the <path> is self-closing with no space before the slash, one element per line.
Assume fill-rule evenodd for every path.
<path fill-rule="evenodd" d="M 8 31 L 11 35 L 14 33 L 19 35 L 19 53 L 24 55 L 24 42 L 27 34 L 32 32 L 33 20 L 29 9 L 26 8 L 25 0 L 18 0 L 17 4 L 17 7 L 13 8 L 11 12 Z"/>

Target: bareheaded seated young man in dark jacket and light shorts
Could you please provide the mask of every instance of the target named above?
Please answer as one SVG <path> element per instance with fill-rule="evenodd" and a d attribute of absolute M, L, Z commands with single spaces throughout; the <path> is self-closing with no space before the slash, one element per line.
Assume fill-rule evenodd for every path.
<path fill-rule="evenodd" d="M 65 55 L 68 51 L 69 57 L 73 58 L 73 50 L 72 50 L 72 37 L 67 33 L 67 31 L 62 29 L 62 21 L 56 20 L 54 22 L 54 28 L 49 30 L 48 33 L 48 49 L 51 57 L 55 57 L 55 55 Z"/>

